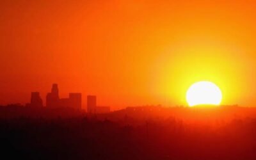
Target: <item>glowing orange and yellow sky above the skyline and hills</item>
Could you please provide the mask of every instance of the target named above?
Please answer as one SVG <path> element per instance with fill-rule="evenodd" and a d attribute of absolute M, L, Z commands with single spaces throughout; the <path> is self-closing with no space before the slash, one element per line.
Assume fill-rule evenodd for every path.
<path fill-rule="evenodd" d="M 256 104 L 255 1 L 0 1 L 0 104 L 52 83 L 114 109 L 186 104 L 195 81 Z"/>

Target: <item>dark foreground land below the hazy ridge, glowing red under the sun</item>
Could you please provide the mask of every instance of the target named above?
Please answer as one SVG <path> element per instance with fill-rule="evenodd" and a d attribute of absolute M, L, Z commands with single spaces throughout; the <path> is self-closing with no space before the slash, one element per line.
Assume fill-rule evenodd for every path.
<path fill-rule="evenodd" d="M 256 118 L 1 118 L 6 159 L 256 159 Z"/>

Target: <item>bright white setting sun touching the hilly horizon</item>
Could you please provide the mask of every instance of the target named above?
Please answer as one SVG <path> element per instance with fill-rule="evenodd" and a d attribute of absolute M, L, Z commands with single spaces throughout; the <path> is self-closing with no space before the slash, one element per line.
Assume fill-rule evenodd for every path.
<path fill-rule="evenodd" d="M 186 100 L 190 107 L 198 105 L 214 105 L 221 103 L 222 93 L 220 88 L 209 81 L 200 81 L 192 84 L 186 93 Z"/>

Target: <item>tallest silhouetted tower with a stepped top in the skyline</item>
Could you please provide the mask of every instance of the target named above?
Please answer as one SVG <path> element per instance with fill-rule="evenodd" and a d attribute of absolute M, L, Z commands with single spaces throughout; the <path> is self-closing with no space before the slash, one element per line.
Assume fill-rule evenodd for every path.
<path fill-rule="evenodd" d="M 58 84 L 52 84 L 51 93 L 47 93 L 46 107 L 49 107 L 49 108 L 59 108 L 60 107 Z"/>

